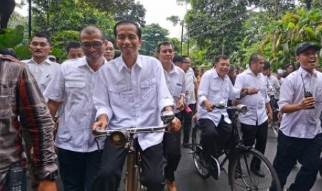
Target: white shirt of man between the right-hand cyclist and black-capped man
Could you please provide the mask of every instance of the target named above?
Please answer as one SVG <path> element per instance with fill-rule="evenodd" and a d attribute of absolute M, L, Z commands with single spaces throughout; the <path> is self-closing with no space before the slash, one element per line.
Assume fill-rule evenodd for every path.
<path fill-rule="evenodd" d="M 244 87 L 259 88 L 257 94 L 251 96 L 245 96 L 240 99 L 240 104 L 247 106 L 248 111 L 245 114 L 240 113 L 238 117 L 240 122 L 247 125 L 261 125 L 268 117 L 266 113 L 266 103 L 269 102 L 269 96 L 267 94 L 267 78 L 262 73 L 258 73 L 256 76 L 251 69 L 247 69 L 237 75 L 235 81 L 235 88 L 242 89 Z"/>

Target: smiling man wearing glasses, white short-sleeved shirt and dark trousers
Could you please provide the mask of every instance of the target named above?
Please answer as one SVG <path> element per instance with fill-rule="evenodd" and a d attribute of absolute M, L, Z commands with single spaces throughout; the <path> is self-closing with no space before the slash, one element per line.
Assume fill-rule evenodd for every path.
<path fill-rule="evenodd" d="M 96 145 L 91 134 L 96 114 L 91 86 L 94 73 L 107 63 L 107 40 L 100 28 L 87 26 L 80 32 L 80 45 L 85 56 L 64 62 L 44 92 L 51 116 L 62 105 L 55 146 L 64 190 L 91 190 L 104 147 L 104 140 Z"/>

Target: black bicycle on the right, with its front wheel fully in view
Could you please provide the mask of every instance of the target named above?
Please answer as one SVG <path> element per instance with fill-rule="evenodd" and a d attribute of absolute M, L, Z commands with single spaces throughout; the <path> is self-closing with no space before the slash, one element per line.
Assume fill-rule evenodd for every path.
<path fill-rule="evenodd" d="M 237 107 L 224 107 L 222 105 L 215 105 L 219 109 L 230 109 L 234 112 L 232 116 L 233 122 L 233 134 L 229 141 L 229 147 L 225 148 L 223 152 L 218 154 L 218 157 L 211 156 L 212 160 L 215 161 L 213 165 L 217 165 L 217 158 L 219 156 L 224 156 L 224 159 L 219 165 L 220 171 L 223 170 L 229 178 L 229 185 L 231 190 L 268 190 L 271 183 L 274 185 L 276 190 L 282 191 L 280 187 L 280 181 L 271 165 L 269 160 L 256 149 L 252 147 L 247 147 L 243 145 L 242 132 L 240 127 L 240 121 L 238 119 L 239 113 L 246 113 L 247 106 L 239 104 Z M 202 157 L 202 145 L 200 144 L 202 135 L 202 129 L 199 125 L 193 128 L 193 161 L 199 175 L 205 179 L 213 176 L 212 167 L 204 167 L 204 158 Z M 257 158 L 261 161 L 261 170 L 264 172 L 265 176 L 260 177 L 251 171 L 251 159 Z M 228 173 L 224 165 L 228 165 Z M 215 168 L 216 169 L 216 168 Z M 216 172 L 215 172 L 216 173 Z M 220 174 L 215 174 L 214 178 L 217 179 Z"/>

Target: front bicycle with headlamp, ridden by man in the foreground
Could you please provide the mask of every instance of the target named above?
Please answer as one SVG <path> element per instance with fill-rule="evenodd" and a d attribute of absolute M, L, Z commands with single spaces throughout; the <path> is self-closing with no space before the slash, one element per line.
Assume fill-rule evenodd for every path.
<path fill-rule="evenodd" d="M 96 138 L 109 136 L 109 140 L 113 145 L 116 147 L 125 147 L 128 151 L 127 169 L 125 173 L 126 191 L 145 190 L 144 186 L 140 183 L 141 157 L 140 151 L 136 147 L 134 134 L 164 133 L 173 118 L 175 118 L 175 114 L 172 111 L 163 111 L 161 113 L 161 120 L 164 125 L 154 127 L 128 127 L 118 130 L 101 130 L 99 127 L 96 129 Z"/>

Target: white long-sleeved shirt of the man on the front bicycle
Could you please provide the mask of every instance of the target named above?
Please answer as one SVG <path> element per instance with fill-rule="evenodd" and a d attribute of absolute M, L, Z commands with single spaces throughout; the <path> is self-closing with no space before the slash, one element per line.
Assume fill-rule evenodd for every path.
<path fill-rule="evenodd" d="M 100 67 L 93 101 L 96 118 L 101 114 L 109 118 L 107 129 L 162 125 L 162 109 L 175 106 L 161 62 L 145 55 L 138 55 L 132 69 L 127 68 L 122 55 Z M 137 138 L 144 150 L 161 143 L 163 133 L 138 134 Z"/>

